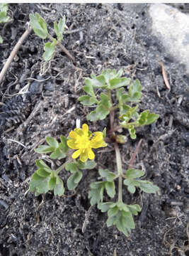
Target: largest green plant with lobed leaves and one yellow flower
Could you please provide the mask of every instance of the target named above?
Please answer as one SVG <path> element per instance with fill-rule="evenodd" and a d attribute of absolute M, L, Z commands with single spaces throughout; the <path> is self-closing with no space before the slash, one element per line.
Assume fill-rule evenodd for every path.
<path fill-rule="evenodd" d="M 40 193 L 52 190 L 55 196 L 62 196 L 64 184 L 58 176 L 62 169 L 71 173 L 67 180 L 67 188 L 75 189 L 83 176 L 82 170 L 96 167 L 96 162 L 93 160 L 95 158 L 93 149 L 107 146 L 106 142 L 111 143 L 115 148 L 117 170 L 99 168 L 98 181 L 91 183 L 88 198 L 91 206 L 97 204 L 98 209 L 103 213 L 108 212 L 106 221 L 108 227 L 115 225 L 120 232 L 129 235 L 130 231 L 134 229 L 133 215 L 137 215 L 141 208 L 138 204 L 124 203 L 122 193 L 126 193 L 126 188 L 130 193 L 134 193 L 136 189 L 146 193 L 156 193 L 159 188 L 151 181 L 141 179 L 144 176 L 144 171 L 132 168 L 132 164 L 128 168 L 124 168 L 123 171 L 118 144 L 125 143 L 127 139 L 124 134 L 117 134 L 117 132 L 120 128 L 127 129 L 131 139 L 136 139 L 135 129 L 152 124 L 158 119 L 159 114 L 150 113 L 149 110 L 139 113 L 137 103 L 142 97 L 142 86 L 139 80 L 131 82 L 130 78 L 122 78 L 122 70 L 119 70 L 118 73 L 116 70 L 106 70 L 101 75 L 91 75 L 91 78 L 86 78 L 85 84 L 86 95 L 79 97 L 79 101 L 82 105 L 94 107 L 86 119 L 96 122 L 110 117 L 107 138 L 105 138 L 106 127 L 103 132 L 92 133 L 88 130 L 87 124 L 83 124 L 82 129 L 76 128 L 69 132 L 69 137 L 61 136 L 60 142 L 52 137 L 47 137 L 47 145 L 38 146 L 38 149 L 35 149 L 36 152 L 50 153 L 51 159 L 60 160 L 69 156 L 70 149 L 74 149 L 75 151 L 71 155 L 74 161 L 69 156 L 62 166 L 57 170 L 52 170 L 44 161 L 36 160 L 38 170 L 35 171 L 30 181 L 30 191 L 35 192 L 35 195 L 38 196 Z M 115 112 L 119 114 L 119 124 L 117 124 L 118 120 L 115 120 Z M 79 160 L 76 161 L 77 158 Z M 116 186 L 117 181 L 118 186 Z M 115 197 L 117 191 L 118 197 Z M 105 193 L 111 198 L 110 201 L 104 201 Z"/>

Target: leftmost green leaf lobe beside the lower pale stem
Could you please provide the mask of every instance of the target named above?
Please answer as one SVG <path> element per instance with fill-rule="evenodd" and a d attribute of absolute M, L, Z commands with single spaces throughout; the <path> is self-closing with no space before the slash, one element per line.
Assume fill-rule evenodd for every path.
<path fill-rule="evenodd" d="M 103 201 L 103 191 L 105 188 L 105 181 L 97 181 L 91 183 L 91 191 L 88 198 L 91 199 L 91 206 Z"/>

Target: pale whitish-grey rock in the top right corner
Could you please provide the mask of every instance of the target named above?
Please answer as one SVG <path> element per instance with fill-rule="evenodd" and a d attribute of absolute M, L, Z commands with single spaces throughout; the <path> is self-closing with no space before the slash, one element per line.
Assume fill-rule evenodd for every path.
<path fill-rule="evenodd" d="M 189 16 L 166 4 L 151 4 L 152 33 L 189 73 Z"/>

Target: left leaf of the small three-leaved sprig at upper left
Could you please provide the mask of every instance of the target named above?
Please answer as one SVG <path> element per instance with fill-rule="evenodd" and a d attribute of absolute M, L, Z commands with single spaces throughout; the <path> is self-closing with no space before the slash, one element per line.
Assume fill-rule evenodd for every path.
<path fill-rule="evenodd" d="M 47 23 L 44 18 L 42 18 L 39 14 L 30 14 L 30 26 L 33 28 L 33 31 L 37 36 L 42 39 L 47 38 Z"/>

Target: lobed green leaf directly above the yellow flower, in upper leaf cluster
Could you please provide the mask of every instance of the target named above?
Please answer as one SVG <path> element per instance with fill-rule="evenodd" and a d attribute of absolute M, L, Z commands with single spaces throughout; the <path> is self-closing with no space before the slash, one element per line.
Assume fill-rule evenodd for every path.
<path fill-rule="evenodd" d="M 94 122 L 97 120 L 103 120 L 110 113 L 111 102 L 108 99 L 108 95 L 105 95 L 101 92 L 101 101 L 98 102 L 98 107 L 96 110 L 92 111 L 90 114 L 86 116 L 86 119 Z"/>

